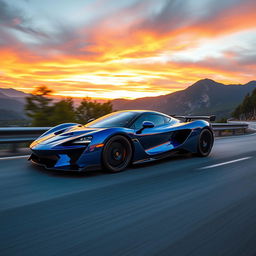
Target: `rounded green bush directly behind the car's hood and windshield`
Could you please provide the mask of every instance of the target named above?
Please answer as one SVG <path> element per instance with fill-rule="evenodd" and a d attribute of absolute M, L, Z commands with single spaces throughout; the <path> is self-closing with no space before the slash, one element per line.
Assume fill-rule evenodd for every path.
<path fill-rule="evenodd" d="M 85 98 L 76 109 L 76 115 L 79 123 L 87 123 L 90 119 L 96 119 L 112 111 L 113 108 L 110 101 L 99 103 Z"/>

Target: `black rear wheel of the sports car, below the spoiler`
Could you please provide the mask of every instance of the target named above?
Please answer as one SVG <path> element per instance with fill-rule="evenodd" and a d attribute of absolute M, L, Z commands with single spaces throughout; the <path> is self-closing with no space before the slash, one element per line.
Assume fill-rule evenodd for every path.
<path fill-rule="evenodd" d="M 213 133 L 210 129 L 204 128 L 198 138 L 197 155 L 206 157 L 211 153 L 213 146 Z"/>

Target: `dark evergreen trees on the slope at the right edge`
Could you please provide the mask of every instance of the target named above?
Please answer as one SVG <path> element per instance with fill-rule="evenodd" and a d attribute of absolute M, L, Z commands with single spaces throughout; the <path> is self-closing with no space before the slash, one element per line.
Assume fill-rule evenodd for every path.
<path fill-rule="evenodd" d="M 256 120 L 256 89 L 247 94 L 243 102 L 232 113 L 239 120 Z"/>

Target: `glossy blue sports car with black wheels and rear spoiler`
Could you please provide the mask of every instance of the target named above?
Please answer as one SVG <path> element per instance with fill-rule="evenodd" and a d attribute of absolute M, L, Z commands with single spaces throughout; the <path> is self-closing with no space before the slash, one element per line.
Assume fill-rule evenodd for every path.
<path fill-rule="evenodd" d="M 86 125 L 65 123 L 36 139 L 30 145 L 29 159 L 47 169 L 119 172 L 129 164 L 164 158 L 173 152 L 205 157 L 214 142 L 211 125 L 203 120 L 207 118 L 214 120 L 214 116 L 129 110 L 113 112 Z"/>

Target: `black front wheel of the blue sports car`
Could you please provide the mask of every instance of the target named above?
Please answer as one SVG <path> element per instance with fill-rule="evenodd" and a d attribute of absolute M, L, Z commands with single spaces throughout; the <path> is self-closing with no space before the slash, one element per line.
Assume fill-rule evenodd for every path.
<path fill-rule="evenodd" d="M 109 172 L 121 172 L 130 164 L 132 146 L 122 135 L 111 137 L 102 152 L 102 164 Z"/>

